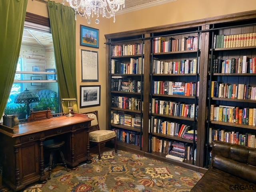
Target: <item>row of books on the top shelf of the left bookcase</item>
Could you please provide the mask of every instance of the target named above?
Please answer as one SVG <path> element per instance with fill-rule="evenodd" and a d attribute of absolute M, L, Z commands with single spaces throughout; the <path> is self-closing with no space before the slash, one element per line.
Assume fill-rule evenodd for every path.
<path fill-rule="evenodd" d="M 143 46 L 144 49 L 144 46 Z M 123 44 L 111 46 L 112 56 L 126 56 L 126 55 L 139 55 L 144 53 L 142 44 Z"/>

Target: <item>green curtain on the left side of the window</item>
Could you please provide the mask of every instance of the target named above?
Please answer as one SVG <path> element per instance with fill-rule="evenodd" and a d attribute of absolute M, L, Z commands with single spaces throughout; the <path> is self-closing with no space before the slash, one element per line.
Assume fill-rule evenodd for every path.
<path fill-rule="evenodd" d="M 0 115 L 14 81 L 27 4 L 28 0 L 0 0 Z"/>

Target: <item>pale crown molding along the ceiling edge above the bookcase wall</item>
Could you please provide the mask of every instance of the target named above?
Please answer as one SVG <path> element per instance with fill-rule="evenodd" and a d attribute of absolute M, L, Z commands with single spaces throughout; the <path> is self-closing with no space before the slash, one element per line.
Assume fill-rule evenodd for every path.
<path fill-rule="evenodd" d="M 142 5 L 137 5 L 137 6 L 127 8 L 127 9 L 119 10 L 118 12 L 116 12 L 116 15 L 122 15 L 122 14 L 125 14 L 125 13 L 138 11 L 138 10 L 141 10 L 141 9 L 146 9 L 146 8 L 150 8 L 150 7 L 153 7 L 153 6 L 158 6 L 158 5 L 162 5 L 162 4 L 165 4 L 165 3 L 170 3 L 170 2 L 173 2 L 173 1 L 176 1 L 176 0 L 156 0 L 156 1 L 148 2 L 148 3 L 142 4 Z"/>

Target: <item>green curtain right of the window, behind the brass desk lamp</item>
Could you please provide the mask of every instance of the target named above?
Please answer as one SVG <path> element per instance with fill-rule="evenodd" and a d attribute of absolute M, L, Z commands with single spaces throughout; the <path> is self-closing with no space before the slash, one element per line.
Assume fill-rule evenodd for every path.
<path fill-rule="evenodd" d="M 52 30 L 56 72 L 61 98 L 76 98 L 76 20 L 75 12 L 69 6 L 48 2 Z M 72 103 L 78 112 L 77 102 Z M 62 103 L 67 112 L 67 103 Z"/>

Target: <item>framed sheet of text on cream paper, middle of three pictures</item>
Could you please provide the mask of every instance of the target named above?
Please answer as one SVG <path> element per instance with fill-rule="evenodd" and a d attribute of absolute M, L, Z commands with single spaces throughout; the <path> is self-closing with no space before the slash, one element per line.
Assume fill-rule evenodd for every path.
<path fill-rule="evenodd" d="M 98 82 L 98 52 L 81 49 L 82 82 Z"/>

